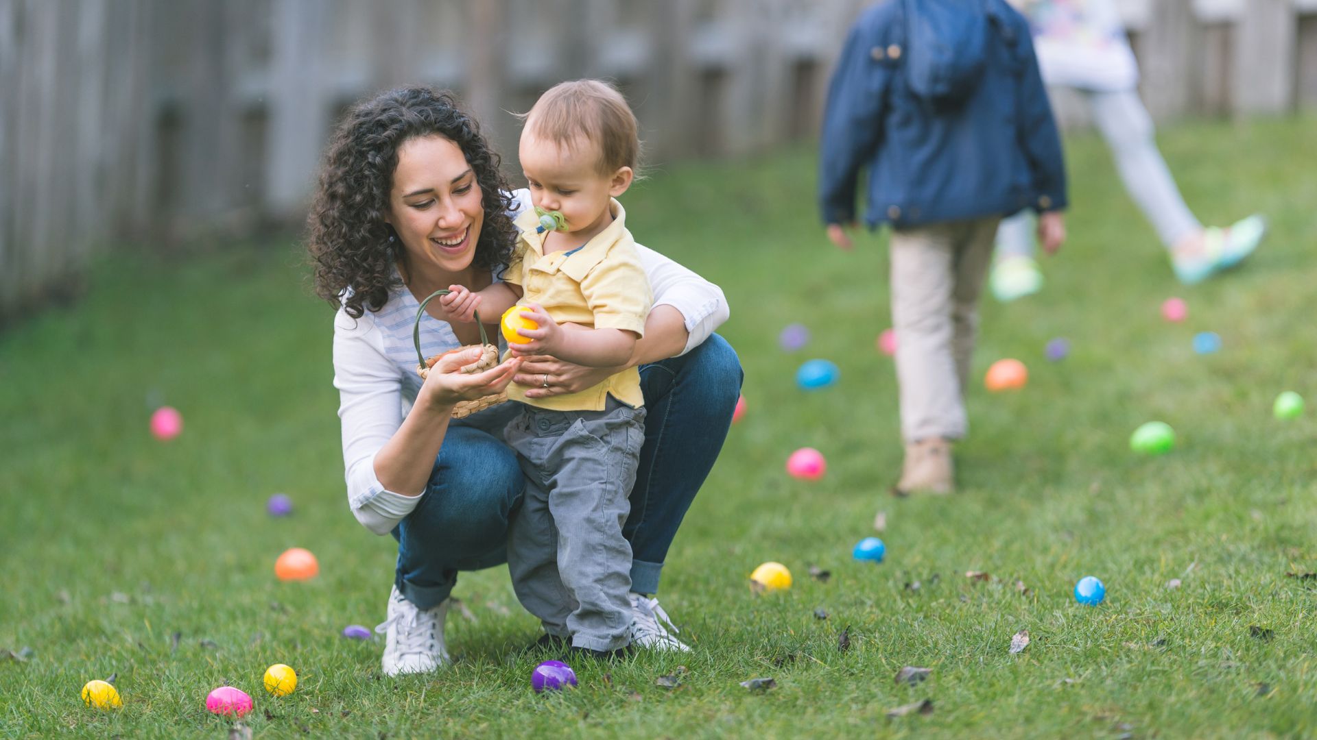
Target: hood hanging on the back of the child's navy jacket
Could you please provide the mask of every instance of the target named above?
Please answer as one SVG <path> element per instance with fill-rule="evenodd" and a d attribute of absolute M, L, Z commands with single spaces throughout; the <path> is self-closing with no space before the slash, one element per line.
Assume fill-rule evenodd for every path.
<path fill-rule="evenodd" d="M 906 75 L 911 91 L 935 103 L 973 91 L 988 61 L 985 0 L 902 0 Z"/>

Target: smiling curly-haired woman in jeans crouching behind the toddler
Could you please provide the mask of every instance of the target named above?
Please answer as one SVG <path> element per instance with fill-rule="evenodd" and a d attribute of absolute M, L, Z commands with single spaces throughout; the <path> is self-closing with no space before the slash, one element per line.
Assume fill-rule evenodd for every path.
<path fill-rule="evenodd" d="M 577 392 L 631 366 L 639 366 L 648 408 L 623 528 L 633 553 L 632 641 L 689 649 L 653 594 L 740 395 L 736 354 L 712 333 L 727 319 L 718 286 L 640 248 L 655 300 L 626 366 L 537 356 L 462 374 L 458 367 L 478 358 L 473 349 L 441 359 L 424 381 L 416 374 L 420 300 L 449 286 L 478 291 L 498 280 L 516 237 L 512 220 L 528 208 L 531 199 L 510 191 L 475 121 L 449 93 L 425 87 L 356 105 L 320 174 L 308 248 L 316 292 L 338 309 L 333 365 L 348 503 L 367 529 L 398 540 L 381 625 L 389 675 L 448 662 L 444 618 L 457 573 L 506 562 L 508 521 L 522 503 L 522 469 L 502 440 L 512 404 L 453 420 L 454 404 L 512 381 L 533 386 L 533 398 Z M 439 315 L 432 303 L 420 321 L 425 357 L 479 344 L 475 324 Z"/>

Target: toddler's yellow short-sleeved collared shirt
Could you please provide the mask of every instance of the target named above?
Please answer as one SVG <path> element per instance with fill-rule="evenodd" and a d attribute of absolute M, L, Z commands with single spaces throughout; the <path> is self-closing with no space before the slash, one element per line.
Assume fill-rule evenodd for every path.
<path fill-rule="evenodd" d="M 626 329 L 644 336 L 653 304 L 649 279 L 627 230 L 626 211 L 616 199 L 610 208 L 612 223 L 606 229 L 583 246 L 552 254 L 544 254 L 545 234 L 535 233 L 533 209 L 515 221 L 522 233 L 503 280 L 522 287 L 518 305 L 539 303 L 560 324 Z M 574 394 L 529 399 L 527 390 L 528 386 L 512 383 L 507 387 L 507 398 L 554 411 L 603 411 L 610 394 L 631 407 L 645 403 L 640 373 L 635 367 Z"/>

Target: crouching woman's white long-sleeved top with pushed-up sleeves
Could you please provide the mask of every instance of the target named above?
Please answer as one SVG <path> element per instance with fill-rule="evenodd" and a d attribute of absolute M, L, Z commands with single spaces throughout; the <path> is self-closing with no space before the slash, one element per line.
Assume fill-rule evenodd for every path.
<path fill-rule="evenodd" d="M 528 191 L 512 194 L 512 216 L 528 209 Z M 723 291 L 672 259 L 636 245 L 649 278 L 655 305 L 681 312 L 690 337 L 682 354 L 698 346 L 727 320 Z M 367 529 L 386 535 L 416 508 L 420 495 L 403 495 L 379 485 L 375 454 L 392 438 L 416 400 L 412 324 L 419 303 L 406 287 L 394 290 L 379 311 L 353 319 L 340 308 L 333 323 L 333 384 L 338 388 L 342 460 L 348 506 Z M 421 353 L 432 357 L 461 346 L 445 321 L 428 313 L 420 324 Z M 416 491 L 423 494 L 423 491 Z"/>

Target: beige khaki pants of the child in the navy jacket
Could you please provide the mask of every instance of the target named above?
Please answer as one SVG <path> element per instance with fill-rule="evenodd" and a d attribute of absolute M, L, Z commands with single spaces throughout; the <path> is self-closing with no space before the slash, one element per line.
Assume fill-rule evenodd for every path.
<path fill-rule="evenodd" d="M 932 224 L 892 234 L 892 320 L 906 442 L 965 436 L 964 388 L 979 329 L 979 292 L 1000 220 Z"/>

